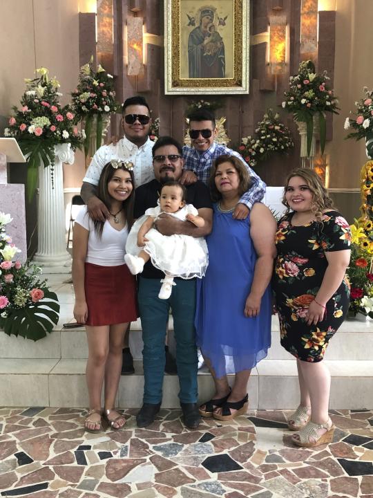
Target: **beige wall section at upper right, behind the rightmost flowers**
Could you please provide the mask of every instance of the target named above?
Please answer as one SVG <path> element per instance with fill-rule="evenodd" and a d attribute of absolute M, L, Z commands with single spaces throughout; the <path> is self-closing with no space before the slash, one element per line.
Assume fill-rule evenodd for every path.
<path fill-rule="evenodd" d="M 330 187 L 359 186 L 360 168 L 367 158 L 363 140 L 344 140 L 345 118 L 354 111 L 354 102 L 363 97 L 363 86 L 373 88 L 373 1 L 336 0 L 336 55 L 334 89 L 341 111 L 334 116 L 330 154 Z"/>

